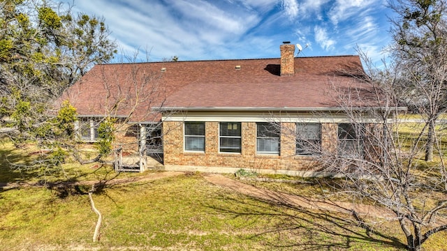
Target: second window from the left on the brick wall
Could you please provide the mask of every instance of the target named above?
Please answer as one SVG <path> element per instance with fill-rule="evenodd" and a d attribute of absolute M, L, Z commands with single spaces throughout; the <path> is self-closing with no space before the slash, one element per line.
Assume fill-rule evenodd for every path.
<path fill-rule="evenodd" d="M 219 151 L 221 153 L 241 152 L 241 124 L 221 122 L 219 128 Z"/>

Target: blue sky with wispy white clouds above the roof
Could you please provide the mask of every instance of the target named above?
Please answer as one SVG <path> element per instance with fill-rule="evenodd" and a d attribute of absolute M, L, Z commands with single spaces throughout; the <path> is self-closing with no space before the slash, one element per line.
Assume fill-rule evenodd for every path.
<path fill-rule="evenodd" d="M 357 54 L 379 61 L 390 43 L 386 0 L 76 0 L 73 10 L 105 18 L 127 56 L 180 61 Z"/>

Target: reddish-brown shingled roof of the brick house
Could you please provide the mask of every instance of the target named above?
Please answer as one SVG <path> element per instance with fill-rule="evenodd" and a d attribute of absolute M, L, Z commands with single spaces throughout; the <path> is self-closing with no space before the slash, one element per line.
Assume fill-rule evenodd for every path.
<path fill-rule="evenodd" d="M 351 88 L 363 72 L 358 56 L 295 57 L 294 73 L 280 74 L 281 58 L 103 64 L 61 98 L 82 116 L 159 119 L 164 109 L 325 109 L 339 107 L 333 84 Z"/>

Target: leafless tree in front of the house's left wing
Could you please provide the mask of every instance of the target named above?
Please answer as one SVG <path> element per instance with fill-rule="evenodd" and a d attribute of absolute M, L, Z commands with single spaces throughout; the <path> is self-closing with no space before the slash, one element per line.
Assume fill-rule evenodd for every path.
<path fill-rule="evenodd" d="M 91 114 L 78 121 L 78 141 L 66 145 L 81 163 L 103 161 L 117 148 L 143 156 L 149 145 L 152 152 L 162 153 L 161 114 L 152 107 L 162 107 L 166 98 L 163 73 L 151 63 L 137 63 L 137 58 L 95 66 L 59 99 L 69 100 L 80 114 Z M 95 158 L 82 159 L 82 139 L 95 142 Z"/>

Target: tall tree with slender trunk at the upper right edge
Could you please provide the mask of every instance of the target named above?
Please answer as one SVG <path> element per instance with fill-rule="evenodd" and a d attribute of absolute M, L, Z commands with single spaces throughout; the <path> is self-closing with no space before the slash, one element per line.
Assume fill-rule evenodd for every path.
<path fill-rule="evenodd" d="M 397 0 L 390 3 L 393 58 L 400 69 L 404 102 L 427 126 L 425 160 L 433 160 L 436 121 L 447 110 L 447 1 Z"/>

